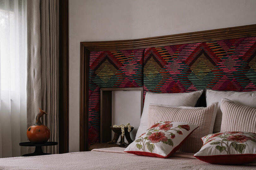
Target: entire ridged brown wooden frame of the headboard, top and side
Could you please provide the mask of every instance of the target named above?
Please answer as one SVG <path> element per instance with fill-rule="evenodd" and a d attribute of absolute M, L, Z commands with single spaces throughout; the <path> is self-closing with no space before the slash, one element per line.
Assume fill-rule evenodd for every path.
<path fill-rule="evenodd" d="M 91 51 L 127 50 L 256 36 L 256 24 L 122 41 L 80 43 L 80 151 L 88 150 L 88 80 Z"/>

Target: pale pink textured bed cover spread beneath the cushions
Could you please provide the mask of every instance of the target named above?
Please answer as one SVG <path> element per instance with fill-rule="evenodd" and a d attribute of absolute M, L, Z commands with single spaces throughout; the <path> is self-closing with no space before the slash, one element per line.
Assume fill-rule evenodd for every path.
<path fill-rule="evenodd" d="M 191 153 L 175 153 L 163 159 L 137 156 L 124 148 L 94 149 L 44 156 L 1 158 L 0 169 L 256 169 L 256 162 L 244 165 L 215 165 L 199 161 Z"/>

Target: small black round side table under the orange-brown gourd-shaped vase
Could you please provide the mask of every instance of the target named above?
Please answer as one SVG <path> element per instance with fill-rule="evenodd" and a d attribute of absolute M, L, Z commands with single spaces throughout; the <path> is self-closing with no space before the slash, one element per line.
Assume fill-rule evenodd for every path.
<path fill-rule="evenodd" d="M 44 153 L 42 150 L 42 146 L 52 146 L 52 145 L 57 145 L 58 142 L 46 142 L 44 144 L 32 144 L 31 142 L 21 142 L 20 146 L 35 146 L 35 151 L 34 153 L 31 154 L 25 154 L 22 156 L 39 156 L 39 155 L 51 155 L 48 153 Z"/>

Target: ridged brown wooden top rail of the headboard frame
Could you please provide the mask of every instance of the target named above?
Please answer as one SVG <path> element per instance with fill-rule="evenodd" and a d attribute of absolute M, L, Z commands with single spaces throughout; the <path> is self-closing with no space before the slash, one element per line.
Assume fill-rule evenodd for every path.
<path fill-rule="evenodd" d="M 81 42 L 89 51 L 139 49 L 256 36 L 256 24 L 121 41 Z"/>

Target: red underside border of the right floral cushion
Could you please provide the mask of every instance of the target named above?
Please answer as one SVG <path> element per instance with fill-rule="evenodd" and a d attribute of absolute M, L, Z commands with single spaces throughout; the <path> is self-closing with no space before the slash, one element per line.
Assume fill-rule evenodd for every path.
<path fill-rule="evenodd" d="M 204 162 L 226 165 L 237 165 L 256 161 L 256 154 L 210 155 L 194 157 Z"/>

